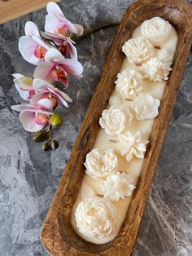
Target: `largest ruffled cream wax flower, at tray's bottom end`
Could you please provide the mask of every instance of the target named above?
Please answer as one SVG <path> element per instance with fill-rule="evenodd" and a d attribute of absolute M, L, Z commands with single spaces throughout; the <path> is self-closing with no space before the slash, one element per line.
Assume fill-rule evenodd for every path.
<path fill-rule="evenodd" d="M 103 237 L 116 232 L 116 208 L 110 201 L 98 196 L 86 198 L 75 211 L 76 226 L 84 236 Z"/>

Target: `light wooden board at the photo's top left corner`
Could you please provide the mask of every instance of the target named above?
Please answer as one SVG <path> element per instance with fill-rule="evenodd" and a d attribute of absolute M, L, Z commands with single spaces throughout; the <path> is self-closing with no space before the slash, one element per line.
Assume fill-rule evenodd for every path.
<path fill-rule="evenodd" d="M 0 24 L 46 7 L 47 2 L 50 0 L 0 0 Z"/>

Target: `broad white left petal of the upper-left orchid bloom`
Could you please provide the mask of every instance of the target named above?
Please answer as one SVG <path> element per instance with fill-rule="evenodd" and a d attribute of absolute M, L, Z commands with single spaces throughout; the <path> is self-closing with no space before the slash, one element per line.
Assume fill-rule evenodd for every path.
<path fill-rule="evenodd" d="M 37 46 L 37 42 L 34 42 L 32 38 L 26 36 L 20 38 L 19 50 L 21 55 L 24 57 L 24 60 L 34 65 L 41 63 L 41 60 L 34 55 Z"/>

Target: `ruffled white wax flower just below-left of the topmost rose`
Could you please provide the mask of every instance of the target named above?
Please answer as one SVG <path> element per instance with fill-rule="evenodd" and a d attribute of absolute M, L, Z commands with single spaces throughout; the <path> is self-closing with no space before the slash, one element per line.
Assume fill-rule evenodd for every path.
<path fill-rule="evenodd" d="M 142 63 L 151 57 L 153 46 L 146 38 L 134 38 L 125 42 L 122 51 L 127 56 L 129 63 Z"/>

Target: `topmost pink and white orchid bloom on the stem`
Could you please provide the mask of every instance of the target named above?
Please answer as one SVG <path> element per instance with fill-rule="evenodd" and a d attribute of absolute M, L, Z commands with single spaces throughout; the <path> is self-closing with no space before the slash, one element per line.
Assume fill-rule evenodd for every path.
<path fill-rule="evenodd" d="M 75 33 L 76 35 L 81 36 L 83 27 L 80 24 L 72 24 L 67 20 L 55 2 L 49 2 L 46 10 L 48 12 L 45 24 L 46 32 L 59 33 L 67 37 L 69 33 Z"/>

